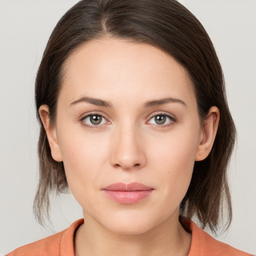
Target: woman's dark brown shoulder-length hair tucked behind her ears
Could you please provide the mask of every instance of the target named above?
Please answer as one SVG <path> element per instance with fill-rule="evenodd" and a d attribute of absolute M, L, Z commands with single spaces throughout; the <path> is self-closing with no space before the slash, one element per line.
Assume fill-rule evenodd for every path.
<path fill-rule="evenodd" d="M 40 122 L 39 184 L 33 207 L 37 220 L 43 223 L 43 215 L 49 216 L 52 191 L 68 190 L 63 163 L 51 157 L 39 106 L 48 105 L 54 123 L 63 63 L 77 47 L 102 37 L 148 43 L 164 50 L 186 68 L 194 84 L 201 121 L 211 106 L 219 108 L 220 121 L 213 147 L 206 159 L 194 163 L 179 213 L 187 218 L 195 215 L 202 228 L 208 225 L 215 231 L 226 205 L 229 225 L 231 201 L 226 170 L 235 141 L 235 127 L 227 106 L 222 70 L 203 26 L 176 0 L 81 0 L 56 24 L 35 81 Z"/>

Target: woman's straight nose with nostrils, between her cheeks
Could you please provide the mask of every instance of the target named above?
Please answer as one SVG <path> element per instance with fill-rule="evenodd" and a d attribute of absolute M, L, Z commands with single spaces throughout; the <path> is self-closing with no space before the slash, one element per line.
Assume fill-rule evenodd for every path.
<path fill-rule="evenodd" d="M 110 163 L 124 170 L 139 169 L 146 164 L 141 131 L 131 125 L 116 127 L 111 143 Z"/>

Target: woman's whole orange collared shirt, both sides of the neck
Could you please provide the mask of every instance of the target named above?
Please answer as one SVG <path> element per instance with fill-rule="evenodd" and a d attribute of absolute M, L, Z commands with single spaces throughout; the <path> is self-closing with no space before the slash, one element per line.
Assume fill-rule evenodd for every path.
<path fill-rule="evenodd" d="M 41 240 L 21 246 L 6 256 L 74 256 L 73 235 L 76 228 L 83 223 L 83 218 L 73 222 L 61 232 Z M 182 220 L 182 224 L 192 234 L 188 256 L 249 256 L 251 254 L 237 250 L 232 246 L 217 241 L 201 230 L 194 222 Z"/>

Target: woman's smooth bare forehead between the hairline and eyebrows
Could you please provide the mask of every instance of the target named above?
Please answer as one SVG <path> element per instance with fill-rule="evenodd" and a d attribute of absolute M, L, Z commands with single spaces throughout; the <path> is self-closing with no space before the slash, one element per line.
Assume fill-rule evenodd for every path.
<path fill-rule="evenodd" d="M 95 39 L 78 47 L 64 63 L 60 94 L 69 100 L 83 94 L 147 100 L 168 93 L 184 100 L 194 97 L 185 68 L 150 44 Z"/>

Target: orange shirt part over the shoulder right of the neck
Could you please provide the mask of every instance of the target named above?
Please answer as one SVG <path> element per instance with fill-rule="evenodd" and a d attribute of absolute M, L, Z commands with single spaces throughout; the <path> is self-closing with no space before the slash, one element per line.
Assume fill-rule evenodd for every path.
<path fill-rule="evenodd" d="M 238 250 L 224 242 L 220 242 L 200 229 L 188 219 L 182 220 L 183 226 L 192 234 L 188 256 L 249 256 L 246 252 Z"/>

